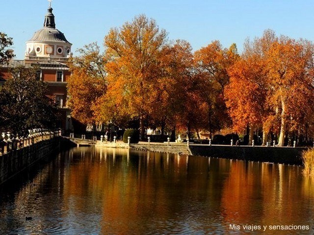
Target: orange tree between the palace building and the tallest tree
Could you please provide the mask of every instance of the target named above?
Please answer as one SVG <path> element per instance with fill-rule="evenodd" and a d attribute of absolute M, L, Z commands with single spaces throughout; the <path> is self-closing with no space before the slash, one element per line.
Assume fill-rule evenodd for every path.
<path fill-rule="evenodd" d="M 78 53 L 69 62 L 72 71 L 68 81 L 69 107 L 74 118 L 95 127 L 96 117 L 92 107 L 107 88 L 105 59 L 97 43 L 78 49 Z"/>

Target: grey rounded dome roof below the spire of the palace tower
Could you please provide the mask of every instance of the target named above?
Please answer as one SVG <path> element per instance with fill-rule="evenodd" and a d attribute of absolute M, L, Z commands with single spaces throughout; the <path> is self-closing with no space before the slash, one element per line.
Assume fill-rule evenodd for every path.
<path fill-rule="evenodd" d="M 42 29 L 35 32 L 33 37 L 30 40 L 28 40 L 28 42 L 69 43 L 61 31 L 59 31 L 56 28 L 49 28 L 49 27 L 43 27 Z"/>

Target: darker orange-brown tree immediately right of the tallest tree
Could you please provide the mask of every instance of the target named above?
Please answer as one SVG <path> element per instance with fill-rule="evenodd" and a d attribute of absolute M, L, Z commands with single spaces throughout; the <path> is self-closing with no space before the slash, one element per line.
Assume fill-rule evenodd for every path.
<path fill-rule="evenodd" d="M 155 103 L 153 119 L 159 120 L 161 127 L 168 124 L 171 128 L 172 141 L 178 126 L 187 132 L 199 132 L 204 127 L 203 101 L 200 88 L 203 84 L 194 67 L 192 47 L 183 40 L 164 47 L 160 58 L 162 77 L 158 79 L 161 93 Z"/>

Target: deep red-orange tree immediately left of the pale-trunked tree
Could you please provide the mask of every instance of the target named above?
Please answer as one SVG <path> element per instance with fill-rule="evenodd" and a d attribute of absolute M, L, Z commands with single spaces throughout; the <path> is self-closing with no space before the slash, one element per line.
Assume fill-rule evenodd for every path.
<path fill-rule="evenodd" d="M 228 72 L 230 83 L 224 91 L 226 105 L 236 132 L 240 133 L 249 126 L 250 144 L 253 140 L 253 131 L 262 128 L 268 112 L 263 60 L 256 54 L 243 57 Z"/>

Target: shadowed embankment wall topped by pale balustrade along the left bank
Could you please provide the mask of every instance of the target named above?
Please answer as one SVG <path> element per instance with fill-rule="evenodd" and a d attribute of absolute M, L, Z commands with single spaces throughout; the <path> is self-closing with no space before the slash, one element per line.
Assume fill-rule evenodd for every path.
<path fill-rule="evenodd" d="M 61 133 L 46 132 L 27 138 L 5 138 L 0 143 L 0 185 L 60 149 Z"/>

